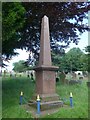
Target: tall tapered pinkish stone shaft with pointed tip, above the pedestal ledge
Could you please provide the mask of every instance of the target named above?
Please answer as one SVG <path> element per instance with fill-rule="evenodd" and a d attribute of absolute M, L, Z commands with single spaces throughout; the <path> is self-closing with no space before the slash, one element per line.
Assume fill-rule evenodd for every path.
<path fill-rule="evenodd" d="M 39 66 L 51 66 L 51 49 L 48 17 L 42 18 Z"/>

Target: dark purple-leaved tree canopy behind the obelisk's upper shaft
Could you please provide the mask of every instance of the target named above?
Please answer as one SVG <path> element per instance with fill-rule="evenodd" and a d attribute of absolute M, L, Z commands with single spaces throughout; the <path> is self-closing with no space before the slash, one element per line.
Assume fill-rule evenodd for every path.
<path fill-rule="evenodd" d="M 7 12 L 4 9 L 5 4 L 7 5 Z M 3 20 L 6 18 L 6 16 L 8 16 L 8 11 L 12 9 L 9 8 L 9 5 L 11 5 L 11 3 L 5 4 L 3 4 L 2 10 Z M 21 5 L 21 3 L 18 4 Z M 16 6 L 13 6 L 13 8 L 16 8 Z M 13 49 L 15 48 L 26 48 L 28 51 L 32 51 L 34 53 L 35 59 L 38 59 L 40 46 L 40 26 L 41 19 L 44 15 L 47 15 L 50 20 L 51 47 L 54 51 L 60 52 L 61 49 L 67 47 L 71 41 L 73 41 L 75 44 L 78 44 L 79 36 L 77 34 L 77 31 L 79 33 L 83 33 L 89 30 L 89 27 L 84 24 L 84 19 L 87 18 L 87 13 L 90 10 L 89 2 L 23 2 L 22 8 L 26 10 L 24 19 L 25 24 L 23 24 L 23 29 L 18 29 L 17 31 L 15 31 L 15 34 L 13 34 L 17 34 L 18 39 L 11 35 L 11 38 L 15 38 L 13 42 L 15 46 L 10 46 L 10 43 L 12 43 L 12 39 L 9 39 L 8 42 L 6 39 L 3 40 L 3 54 L 6 54 L 6 56 L 9 56 L 10 53 L 14 52 Z M 19 23 L 21 23 L 21 21 L 22 19 L 20 19 Z M 14 23 L 14 26 L 15 24 L 16 22 Z M 4 23 L 3 26 L 4 33 L 7 26 L 5 26 Z M 11 31 L 14 30 L 14 27 L 12 28 L 13 29 L 11 29 Z M 6 34 L 6 38 L 7 37 L 8 34 Z M 8 43 L 7 46 L 6 42 Z M 58 44 L 63 42 L 65 42 L 66 45 Z"/>

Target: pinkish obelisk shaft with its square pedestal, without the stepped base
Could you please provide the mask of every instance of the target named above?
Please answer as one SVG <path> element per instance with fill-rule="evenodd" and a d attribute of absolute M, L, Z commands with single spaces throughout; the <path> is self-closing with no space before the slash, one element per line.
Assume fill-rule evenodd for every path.
<path fill-rule="evenodd" d="M 52 66 L 48 17 L 42 18 L 39 65 L 36 71 L 36 93 L 41 96 L 55 94 L 55 70 Z"/>

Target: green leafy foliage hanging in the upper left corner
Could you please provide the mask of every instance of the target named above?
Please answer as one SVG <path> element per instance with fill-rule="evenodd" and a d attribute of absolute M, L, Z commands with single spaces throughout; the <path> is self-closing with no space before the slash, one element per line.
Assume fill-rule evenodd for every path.
<path fill-rule="evenodd" d="M 20 48 L 19 31 L 25 22 L 25 9 L 18 2 L 2 3 L 2 54 L 16 55 L 14 49 Z"/>

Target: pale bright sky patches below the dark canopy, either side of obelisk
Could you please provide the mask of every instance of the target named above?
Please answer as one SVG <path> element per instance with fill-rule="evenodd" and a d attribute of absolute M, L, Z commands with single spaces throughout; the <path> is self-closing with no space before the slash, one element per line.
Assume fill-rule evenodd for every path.
<path fill-rule="evenodd" d="M 71 43 L 69 48 L 65 49 L 65 51 L 68 52 L 73 47 L 79 47 L 82 51 L 84 51 L 84 48 L 86 46 L 88 46 L 88 32 L 85 32 L 80 36 L 80 41 L 78 45 L 75 45 L 75 43 Z M 8 71 L 12 71 L 14 62 L 28 59 L 29 52 L 26 52 L 25 50 L 20 50 L 20 49 L 18 49 L 17 52 L 19 53 L 18 56 L 12 57 L 12 60 L 10 60 L 9 63 L 5 62 L 8 65 L 7 67 Z"/>

